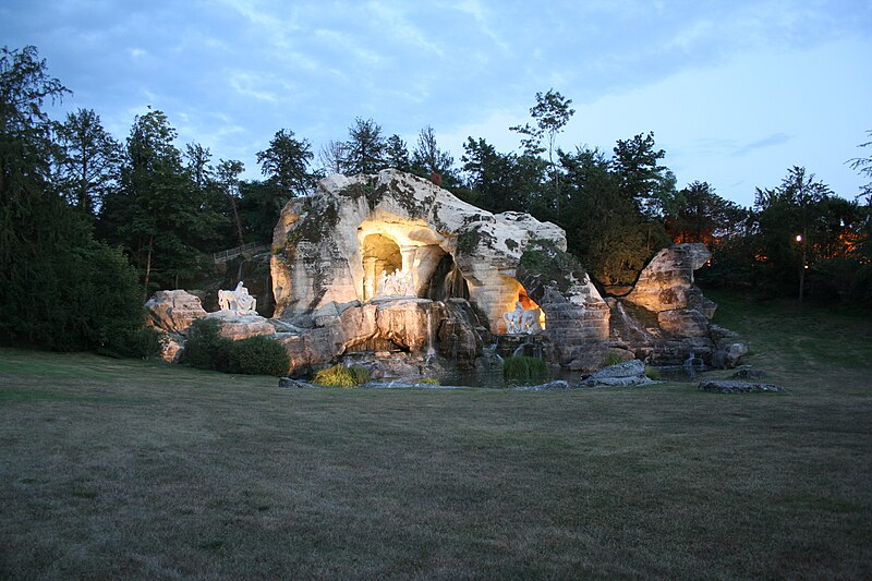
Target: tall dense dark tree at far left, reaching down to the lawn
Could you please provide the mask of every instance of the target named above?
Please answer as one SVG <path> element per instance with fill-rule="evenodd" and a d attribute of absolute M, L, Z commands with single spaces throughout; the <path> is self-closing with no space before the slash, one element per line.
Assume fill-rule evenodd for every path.
<path fill-rule="evenodd" d="M 45 99 L 66 89 L 36 48 L 0 49 L 0 341 L 93 349 L 142 325 L 124 257 L 51 182 Z"/>

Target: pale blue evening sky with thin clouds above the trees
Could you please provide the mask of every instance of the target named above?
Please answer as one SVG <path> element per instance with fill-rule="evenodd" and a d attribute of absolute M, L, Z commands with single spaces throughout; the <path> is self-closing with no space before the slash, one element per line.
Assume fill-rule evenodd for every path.
<path fill-rule="evenodd" d="M 872 155 L 868 0 L 5 0 L 0 38 L 39 48 L 64 109 L 123 140 L 150 105 L 249 178 L 278 130 L 317 153 L 355 117 L 410 148 L 432 125 L 458 164 L 468 136 L 512 150 L 548 88 L 565 149 L 653 131 L 679 186 L 742 205 L 794 165 L 852 198 Z"/>

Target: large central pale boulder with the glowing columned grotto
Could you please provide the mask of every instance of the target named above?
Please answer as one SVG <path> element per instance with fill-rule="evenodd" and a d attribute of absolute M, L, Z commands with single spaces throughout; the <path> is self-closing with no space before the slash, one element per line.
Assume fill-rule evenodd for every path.
<path fill-rule="evenodd" d="M 493 215 L 408 173 L 322 180 L 284 207 L 272 251 L 276 315 L 304 329 L 280 340 L 300 364 L 387 340 L 471 366 L 519 302 L 541 308 L 542 332 L 562 349 L 608 337 L 608 306 L 560 228 Z M 378 295 L 391 277 L 408 296 Z M 347 306 L 318 320 L 330 305 Z"/>

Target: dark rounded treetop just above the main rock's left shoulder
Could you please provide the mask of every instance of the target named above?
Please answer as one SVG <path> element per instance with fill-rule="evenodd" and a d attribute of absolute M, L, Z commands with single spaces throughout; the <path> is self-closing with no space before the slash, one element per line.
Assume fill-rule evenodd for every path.
<path fill-rule="evenodd" d="M 269 142 L 269 147 L 257 153 L 261 172 L 267 175 L 289 196 L 308 194 L 317 177 L 308 171 L 313 154 L 307 140 L 298 140 L 293 131 L 279 130 Z M 287 199 L 286 199 L 287 201 Z"/>

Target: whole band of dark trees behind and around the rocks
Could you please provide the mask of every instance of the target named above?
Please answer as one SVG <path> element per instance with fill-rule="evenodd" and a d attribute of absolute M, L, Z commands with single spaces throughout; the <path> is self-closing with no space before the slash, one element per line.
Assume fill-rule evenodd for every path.
<path fill-rule="evenodd" d="M 263 180 L 241 179 L 240 160 L 215 159 L 203 144 L 180 148 L 157 109 L 136 116 L 123 142 L 90 109 L 50 119 L 45 102 L 68 93 L 35 47 L 0 52 L 0 330 L 8 341 L 78 349 L 133 332 L 150 292 L 207 276 L 211 252 L 269 242 L 283 205 L 312 193 L 319 178 L 386 168 L 494 213 L 557 223 L 604 290 L 632 283 L 669 243 L 700 241 L 714 251 L 701 274 L 712 285 L 787 294 L 801 278 L 810 296 L 872 294 L 871 186 L 849 201 L 790 168 L 742 208 L 705 182 L 678 189 L 652 133 L 618 141 L 610 153 L 561 148 L 574 110 L 553 89 L 535 95 L 529 122 L 510 128 L 519 135 L 513 152 L 470 136 L 456 164 L 432 126 L 410 147 L 358 118 L 346 140 L 317 154 L 280 129 L 257 153 Z M 851 165 L 872 178 L 870 159 Z"/>

